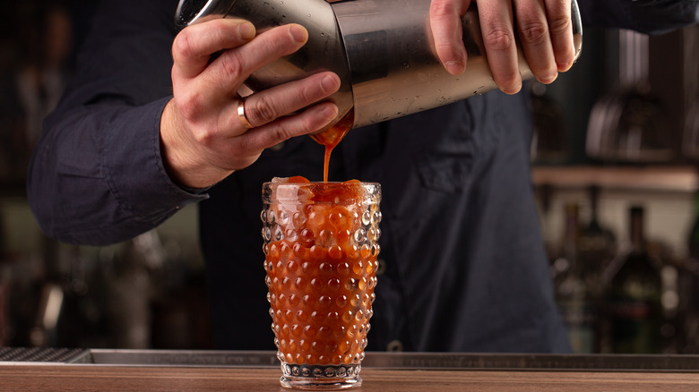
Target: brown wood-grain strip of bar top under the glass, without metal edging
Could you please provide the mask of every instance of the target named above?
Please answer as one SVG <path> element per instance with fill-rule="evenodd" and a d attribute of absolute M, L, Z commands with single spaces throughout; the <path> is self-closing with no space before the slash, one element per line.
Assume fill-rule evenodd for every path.
<path fill-rule="evenodd" d="M 362 370 L 356 391 L 699 391 L 699 373 Z M 279 369 L 0 364 L 2 391 L 286 391 Z"/>

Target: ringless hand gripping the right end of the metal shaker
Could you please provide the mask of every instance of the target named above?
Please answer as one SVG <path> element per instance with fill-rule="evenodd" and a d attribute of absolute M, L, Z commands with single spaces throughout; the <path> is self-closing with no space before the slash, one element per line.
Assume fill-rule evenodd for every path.
<path fill-rule="evenodd" d="M 470 3 L 471 0 L 432 0 L 429 8 L 437 56 L 454 75 L 468 67 L 461 18 Z M 573 65 L 570 0 L 480 0 L 478 12 L 490 71 L 497 87 L 505 93 L 522 89 L 515 34 L 531 72 L 542 83 L 555 81 L 558 72 Z"/>

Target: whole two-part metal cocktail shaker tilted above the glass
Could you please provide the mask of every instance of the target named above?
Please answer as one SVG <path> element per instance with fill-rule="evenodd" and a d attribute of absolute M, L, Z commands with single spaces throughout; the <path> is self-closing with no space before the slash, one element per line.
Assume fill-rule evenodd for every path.
<path fill-rule="evenodd" d="M 259 91 L 320 71 L 332 71 L 341 88 L 330 98 L 337 120 L 354 107 L 353 128 L 440 107 L 496 89 L 480 33 L 475 2 L 462 18 L 466 72 L 453 76 L 436 57 L 429 28 L 430 0 L 180 0 L 176 23 L 184 28 L 211 18 L 237 17 L 258 31 L 286 23 L 306 27 L 305 47 L 250 75 Z M 582 22 L 572 1 L 575 58 Z M 522 50 L 522 79 L 532 73 Z"/>

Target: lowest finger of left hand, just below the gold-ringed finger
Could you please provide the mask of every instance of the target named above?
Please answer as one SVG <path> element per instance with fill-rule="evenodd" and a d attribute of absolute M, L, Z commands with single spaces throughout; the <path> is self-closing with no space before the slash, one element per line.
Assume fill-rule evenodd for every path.
<path fill-rule="evenodd" d="M 331 102 L 309 107 L 298 115 L 280 117 L 270 124 L 253 128 L 239 135 L 230 145 L 233 150 L 262 150 L 290 138 L 320 131 L 330 124 L 338 114 Z"/>

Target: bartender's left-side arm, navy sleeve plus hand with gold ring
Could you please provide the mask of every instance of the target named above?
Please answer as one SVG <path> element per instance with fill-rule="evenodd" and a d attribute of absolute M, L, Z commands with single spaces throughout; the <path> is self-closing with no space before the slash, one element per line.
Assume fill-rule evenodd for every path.
<path fill-rule="evenodd" d="M 95 245 L 132 238 L 207 197 L 194 188 L 252 164 L 285 138 L 315 132 L 337 113 L 325 103 L 289 115 L 332 94 L 334 74 L 247 98 L 253 130 L 231 113 L 251 70 L 271 53 L 303 45 L 289 27 L 252 39 L 234 34 L 231 42 L 241 21 L 212 21 L 185 29 L 178 37 L 186 39 L 173 45 L 172 0 L 103 3 L 30 165 L 30 206 L 50 236 Z M 218 49 L 225 50 L 210 62 Z"/>

